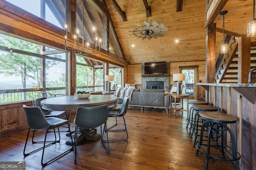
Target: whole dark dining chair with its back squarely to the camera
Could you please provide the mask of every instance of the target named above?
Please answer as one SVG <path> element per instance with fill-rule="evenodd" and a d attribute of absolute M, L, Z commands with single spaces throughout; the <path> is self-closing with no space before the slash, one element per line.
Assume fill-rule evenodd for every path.
<path fill-rule="evenodd" d="M 106 121 L 108 119 L 108 106 L 92 106 L 84 107 L 80 106 L 76 110 L 76 117 L 74 120 L 75 127 L 75 142 L 74 142 L 74 160 L 76 164 L 76 153 L 77 153 L 77 139 L 78 139 L 78 128 L 82 129 L 94 129 L 100 126 L 101 142 L 105 147 L 108 154 L 110 154 L 110 148 L 108 143 L 108 128 Z M 107 146 L 103 141 L 102 124 L 104 124 L 103 132 L 106 131 L 106 142 Z"/>

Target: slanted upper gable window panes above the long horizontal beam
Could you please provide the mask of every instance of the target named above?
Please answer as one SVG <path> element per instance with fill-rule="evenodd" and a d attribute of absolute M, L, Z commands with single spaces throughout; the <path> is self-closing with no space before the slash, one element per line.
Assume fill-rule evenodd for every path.
<path fill-rule="evenodd" d="M 65 24 L 72 25 L 72 23 L 67 23 L 70 21 L 67 18 L 67 4 L 68 0 L 7 0 L 8 2 L 22 8 L 43 18 L 44 20 L 65 29 Z M 41 3 L 42 2 L 42 3 Z M 102 2 L 103 3 L 103 2 Z M 105 5 L 104 3 L 102 4 Z M 79 30 L 79 37 L 82 37 L 82 30 L 84 34 L 84 40 L 92 44 L 93 38 L 98 37 L 102 39 L 101 48 L 109 51 L 110 53 L 124 58 L 120 44 L 116 37 L 114 27 L 111 23 L 107 22 L 107 15 L 104 14 L 104 10 L 100 10 L 99 7 L 94 4 L 91 0 L 76 0 L 76 25 Z M 84 13 L 84 15 L 82 15 Z M 72 18 L 72 21 L 74 19 Z M 83 24 L 82 24 L 83 23 Z M 109 24 L 110 30 L 106 31 L 104 28 Z M 93 27 L 95 27 L 93 36 Z M 71 29 L 70 29 L 71 30 Z M 76 34 L 76 32 L 70 32 Z M 109 42 L 107 41 L 107 33 L 109 33 Z M 95 42 L 94 42 L 95 43 Z M 109 43 L 107 45 L 107 43 Z M 109 47 L 109 49 L 107 49 Z"/>

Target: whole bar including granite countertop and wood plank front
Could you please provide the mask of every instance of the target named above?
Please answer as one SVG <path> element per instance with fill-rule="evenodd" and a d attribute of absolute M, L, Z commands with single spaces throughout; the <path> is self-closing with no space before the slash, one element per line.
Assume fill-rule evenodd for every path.
<path fill-rule="evenodd" d="M 222 113 L 237 117 L 237 123 L 229 125 L 236 137 L 236 148 L 241 154 L 240 169 L 256 167 L 256 84 L 197 83 L 206 92 L 210 105 L 219 107 Z M 226 139 L 230 141 L 230 139 Z M 227 142 L 228 143 L 228 142 Z"/>

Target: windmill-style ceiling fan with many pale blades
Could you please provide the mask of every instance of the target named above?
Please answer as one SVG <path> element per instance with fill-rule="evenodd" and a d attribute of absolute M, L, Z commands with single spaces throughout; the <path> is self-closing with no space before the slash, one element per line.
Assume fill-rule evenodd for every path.
<path fill-rule="evenodd" d="M 147 16 L 147 21 L 144 21 L 144 25 L 141 26 L 138 23 L 136 23 L 136 25 L 138 26 L 137 28 L 132 28 L 134 29 L 133 31 L 129 31 L 132 32 L 129 35 L 135 35 L 138 38 L 142 38 L 146 39 L 148 38 L 149 40 L 154 38 L 157 39 L 158 37 L 162 37 L 164 36 L 164 34 L 167 33 L 168 31 L 168 27 L 166 27 L 163 23 L 156 23 L 155 21 L 152 22 L 152 24 L 150 25 L 148 23 L 148 13 L 147 13 L 148 8 L 146 8 L 146 16 Z"/>

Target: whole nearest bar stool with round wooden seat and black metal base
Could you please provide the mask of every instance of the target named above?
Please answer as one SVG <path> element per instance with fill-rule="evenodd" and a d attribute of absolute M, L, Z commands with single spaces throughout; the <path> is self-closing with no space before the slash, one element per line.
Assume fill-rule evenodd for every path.
<path fill-rule="evenodd" d="M 208 129 L 207 140 L 203 140 L 204 131 L 201 130 L 200 141 L 196 143 L 197 150 L 195 155 L 198 156 L 198 152 L 200 151 L 206 156 L 204 169 L 207 170 L 209 158 L 216 158 L 234 162 L 236 169 L 239 170 L 238 160 L 241 158 L 241 155 L 236 151 L 234 134 L 231 129 L 225 125 L 226 123 L 236 123 L 236 117 L 215 111 L 201 111 L 199 115 L 204 119 L 201 129 Z M 230 146 L 224 143 L 223 134 L 230 135 Z M 203 141 L 207 141 L 207 144 L 203 144 Z M 229 143 L 229 141 L 226 141 L 226 143 Z M 203 146 L 206 145 L 207 151 L 205 152 Z M 222 156 L 210 154 L 210 147 L 218 147 L 218 150 L 221 149 Z M 226 156 L 224 151 L 226 152 Z M 231 156 L 231 158 L 229 158 L 228 155 Z"/>

